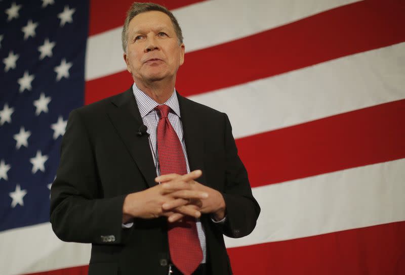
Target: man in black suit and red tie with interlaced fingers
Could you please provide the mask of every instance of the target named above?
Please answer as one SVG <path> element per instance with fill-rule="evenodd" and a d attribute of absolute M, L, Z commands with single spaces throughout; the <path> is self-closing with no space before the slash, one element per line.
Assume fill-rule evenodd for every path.
<path fill-rule="evenodd" d="M 250 234 L 260 207 L 229 120 L 175 91 L 185 48 L 166 8 L 134 3 L 122 38 L 134 85 L 71 112 L 53 230 L 92 243 L 89 274 L 230 274 L 223 234 Z"/>

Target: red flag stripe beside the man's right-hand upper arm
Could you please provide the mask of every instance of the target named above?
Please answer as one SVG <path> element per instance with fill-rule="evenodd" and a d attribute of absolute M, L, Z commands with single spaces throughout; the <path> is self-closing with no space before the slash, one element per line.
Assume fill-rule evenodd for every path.
<path fill-rule="evenodd" d="M 405 100 L 236 140 L 252 187 L 405 158 Z"/>

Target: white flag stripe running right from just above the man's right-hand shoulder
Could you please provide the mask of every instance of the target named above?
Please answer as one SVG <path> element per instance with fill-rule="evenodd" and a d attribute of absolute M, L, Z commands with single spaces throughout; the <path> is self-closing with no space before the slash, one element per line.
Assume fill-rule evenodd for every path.
<path fill-rule="evenodd" d="M 405 42 L 189 99 L 228 114 L 234 137 L 242 138 L 404 99 L 401 59 Z"/>

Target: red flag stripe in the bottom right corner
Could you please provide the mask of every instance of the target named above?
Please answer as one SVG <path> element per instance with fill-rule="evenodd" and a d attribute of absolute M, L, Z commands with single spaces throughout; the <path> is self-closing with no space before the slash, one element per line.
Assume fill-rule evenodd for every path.
<path fill-rule="evenodd" d="M 405 222 L 402 221 L 231 248 L 228 254 L 235 275 L 399 275 L 405 274 L 404 247 Z"/>

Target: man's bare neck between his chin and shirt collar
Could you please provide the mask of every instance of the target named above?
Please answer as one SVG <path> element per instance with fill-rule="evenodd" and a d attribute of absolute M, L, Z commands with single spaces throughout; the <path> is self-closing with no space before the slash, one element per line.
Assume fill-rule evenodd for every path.
<path fill-rule="evenodd" d="M 165 83 L 162 81 L 153 81 L 151 83 L 144 83 L 141 81 L 135 81 L 135 84 L 143 91 L 143 93 L 159 104 L 168 101 L 174 91 L 174 82 Z"/>

